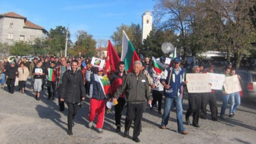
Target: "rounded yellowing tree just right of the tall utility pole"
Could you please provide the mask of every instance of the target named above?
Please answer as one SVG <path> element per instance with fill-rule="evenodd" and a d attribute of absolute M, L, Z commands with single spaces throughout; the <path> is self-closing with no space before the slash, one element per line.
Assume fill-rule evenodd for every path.
<path fill-rule="evenodd" d="M 84 30 L 78 30 L 76 33 L 77 41 L 75 42 L 73 55 L 79 55 L 83 57 L 93 57 L 96 55 L 96 40 L 93 39 L 93 36 L 88 34 Z"/>

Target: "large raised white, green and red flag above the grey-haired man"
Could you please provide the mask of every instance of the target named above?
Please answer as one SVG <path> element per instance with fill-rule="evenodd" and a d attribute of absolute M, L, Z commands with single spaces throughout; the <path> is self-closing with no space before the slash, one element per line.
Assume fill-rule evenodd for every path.
<path fill-rule="evenodd" d="M 140 61 L 134 46 L 126 35 L 125 31 L 122 31 L 122 55 L 121 61 L 125 62 L 125 71 L 131 72 L 135 61 Z"/>

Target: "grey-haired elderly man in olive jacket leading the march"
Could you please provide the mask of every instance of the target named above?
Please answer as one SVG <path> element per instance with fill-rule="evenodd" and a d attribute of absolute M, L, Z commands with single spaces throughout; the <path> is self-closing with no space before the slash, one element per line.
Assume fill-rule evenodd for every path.
<path fill-rule="evenodd" d="M 125 93 L 125 100 L 127 102 L 127 112 L 125 118 L 124 137 L 129 135 L 129 129 L 134 121 L 134 134 L 132 140 L 140 142 L 138 136 L 141 130 L 141 119 L 144 111 L 144 102 L 148 100 L 148 104 L 152 103 L 152 97 L 148 87 L 147 77 L 141 73 L 142 63 L 140 61 L 134 62 L 133 71 L 128 73 L 124 78 L 122 85 L 116 90 L 113 102 L 115 102 L 119 95 Z"/>

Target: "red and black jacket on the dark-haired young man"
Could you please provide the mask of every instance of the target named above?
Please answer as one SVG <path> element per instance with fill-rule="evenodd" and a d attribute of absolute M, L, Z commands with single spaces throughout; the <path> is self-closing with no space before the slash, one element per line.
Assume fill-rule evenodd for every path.
<path fill-rule="evenodd" d="M 113 95 L 116 90 L 122 85 L 122 80 L 125 78 L 126 73 L 123 72 L 122 76 L 120 76 L 119 72 L 114 72 L 113 74 L 111 74 L 110 76 L 110 84 L 111 84 L 111 95 Z M 122 93 L 120 96 L 120 98 L 124 98 L 125 94 Z"/>

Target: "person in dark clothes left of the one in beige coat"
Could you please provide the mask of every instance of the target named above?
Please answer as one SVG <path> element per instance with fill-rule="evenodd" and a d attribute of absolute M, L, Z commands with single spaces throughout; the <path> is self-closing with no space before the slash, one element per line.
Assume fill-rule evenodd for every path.
<path fill-rule="evenodd" d="M 18 68 L 15 67 L 15 62 L 12 61 L 10 62 L 10 66 L 7 67 L 6 70 L 6 78 L 7 78 L 7 88 L 9 90 L 9 93 L 13 94 L 14 93 L 14 83 L 15 83 L 15 78 L 18 74 Z"/>

